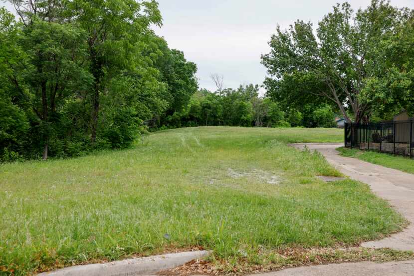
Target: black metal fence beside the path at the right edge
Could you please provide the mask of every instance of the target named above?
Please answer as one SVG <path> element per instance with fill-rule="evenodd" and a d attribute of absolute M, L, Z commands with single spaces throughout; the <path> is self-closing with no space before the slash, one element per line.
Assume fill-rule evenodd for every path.
<path fill-rule="evenodd" d="M 414 156 L 414 120 L 345 124 L 345 147 Z"/>

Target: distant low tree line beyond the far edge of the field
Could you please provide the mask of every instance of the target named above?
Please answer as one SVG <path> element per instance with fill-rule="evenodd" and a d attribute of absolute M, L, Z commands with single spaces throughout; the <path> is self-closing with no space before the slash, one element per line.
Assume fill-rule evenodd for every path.
<path fill-rule="evenodd" d="M 181 110 L 161 120 L 161 129 L 194 126 L 334 127 L 335 113 L 328 104 L 298 111 L 269 97 L 259 96 L 259 85 L 224 88 L 222 77 L 212 76 L 217 89 L 200 89 Z"/>

